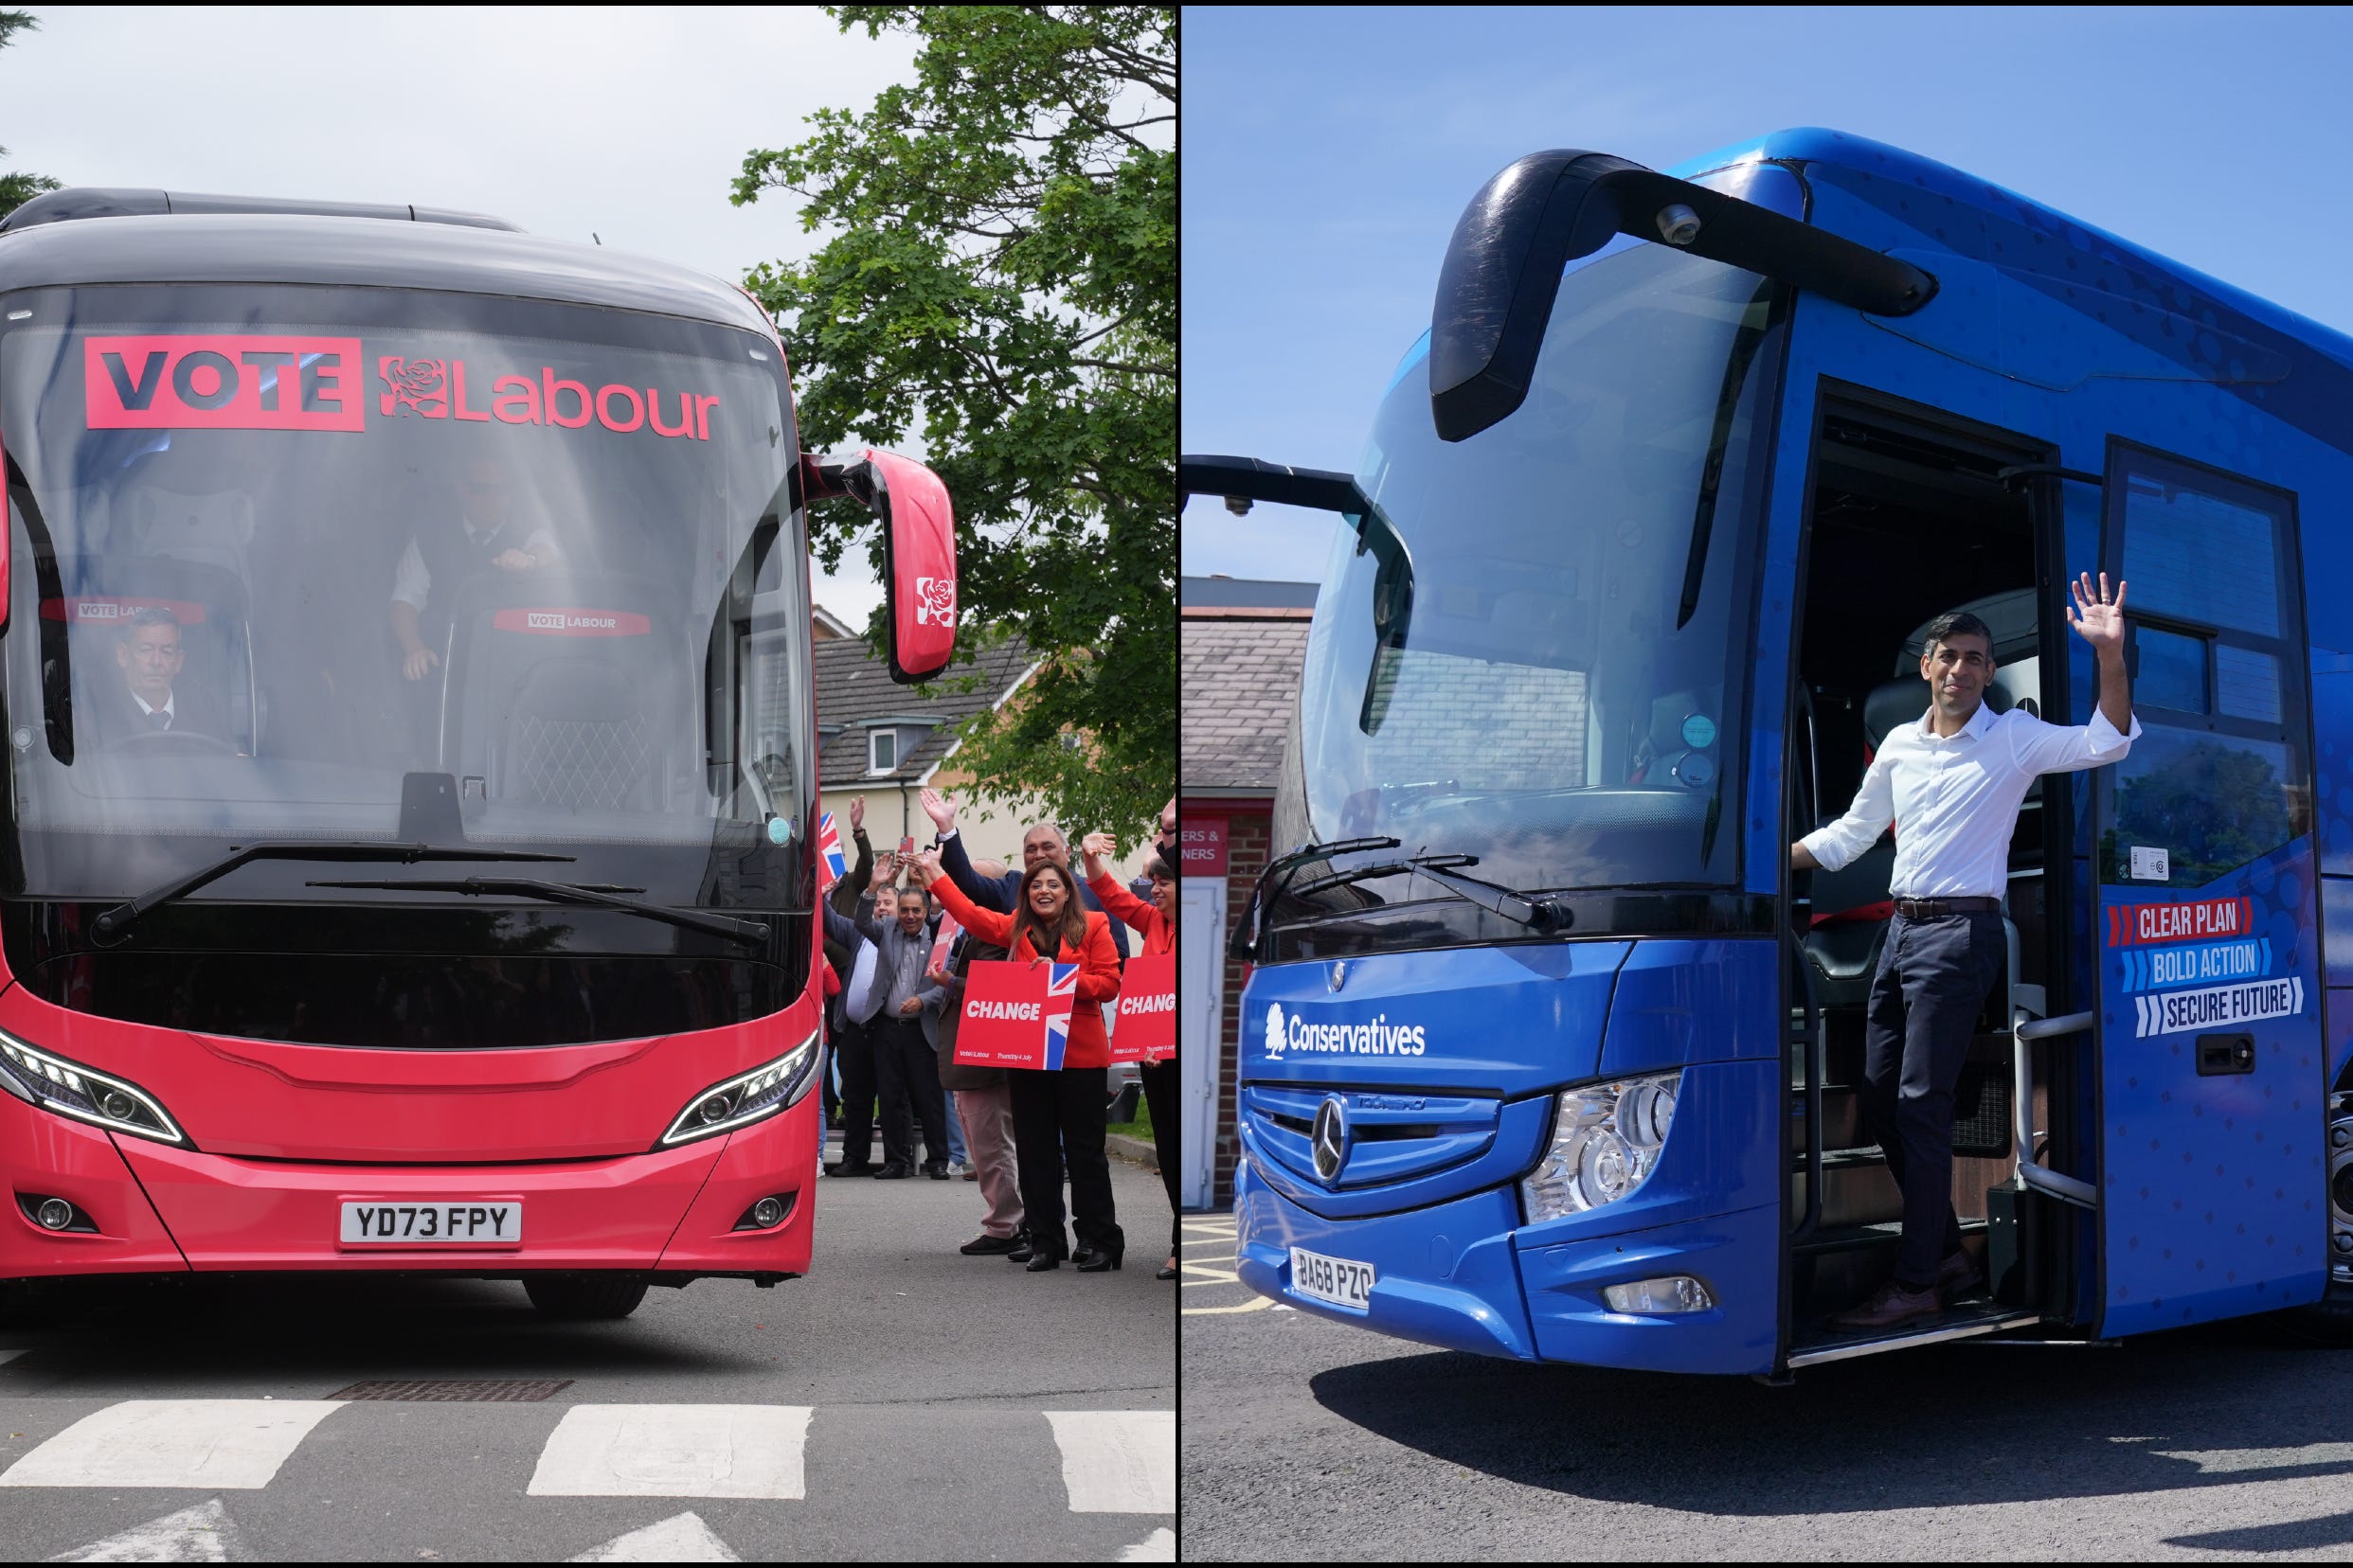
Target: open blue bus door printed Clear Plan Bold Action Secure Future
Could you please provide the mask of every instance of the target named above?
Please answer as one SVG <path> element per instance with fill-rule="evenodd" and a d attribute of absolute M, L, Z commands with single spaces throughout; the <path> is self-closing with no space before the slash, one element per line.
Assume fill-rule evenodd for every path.
<path fill-rule="evenodd" d="M 2297 498 L 2111 440 L 2101 531 L 2144 731 L 2092 778 L 2097 1321 L 2122 1335 L 2320 1298 L 2327 1053 Z"/>

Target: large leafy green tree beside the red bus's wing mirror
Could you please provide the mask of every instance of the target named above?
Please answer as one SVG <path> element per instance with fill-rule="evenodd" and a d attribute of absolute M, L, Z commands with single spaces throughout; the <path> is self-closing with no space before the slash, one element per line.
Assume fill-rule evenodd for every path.
<path fill-rule="evenodd" d="M 1042 665 L 958 762 L 1134 839 L 1176 780 L 1176 12 L 845 5 L 915 80 L 755 150 L 840 233 L 746 284 L 781 324 L 809 449 L 920 430 L 958 510 L 967 637 Z M 831 569 L 871 520 L 826 503 Z M 880 635 L 880 616 L 873 632 Z"/>

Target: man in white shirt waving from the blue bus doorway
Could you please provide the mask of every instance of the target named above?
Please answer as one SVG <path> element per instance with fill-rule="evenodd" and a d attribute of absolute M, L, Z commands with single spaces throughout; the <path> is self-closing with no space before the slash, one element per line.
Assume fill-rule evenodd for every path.
<path fill-rule="evenodd" d="M 1864 1126 L 1904 1190 L 1904 1244 L 1878 1295 L 1833 1324 L 1897 1328 L 1944 1312 L 1977 1265 L 1953 1218 L 1953 1088 L 1977 1020 L 2002 969 L 2002 889 L 2009 835 L 2040 773 L 2122 762 L 2139 738 L 2125 675 L 2125 585 L 2108 574 L 2068 583 L 2068 625 L 2099 656 L 2099 710 L 2085 726 L 2045 724 L 1986 708 L 1993 635 L 1967 611 L 1939 616 L 1922 637 L 1929 710 L 1887 733 L 1847 816 L 1791 844 L 1795 870 L 1840 870 L 1897 823 L 1889 879 L 1894 919 L 1871 978 L 1864 1034 Z"/>

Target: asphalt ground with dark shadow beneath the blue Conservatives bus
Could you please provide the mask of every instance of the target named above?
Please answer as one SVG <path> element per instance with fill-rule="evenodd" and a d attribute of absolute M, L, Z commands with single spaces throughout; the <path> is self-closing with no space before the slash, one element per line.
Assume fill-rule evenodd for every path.
<path fill-rule="evenodd" d="M 1518 1366 L 1268 1305 L 1231 1215 L 1186 1237 L 1188 1561 L 2353 1559 L 2353 1352 L 2212 1326 L 1786 1389 Z"/>

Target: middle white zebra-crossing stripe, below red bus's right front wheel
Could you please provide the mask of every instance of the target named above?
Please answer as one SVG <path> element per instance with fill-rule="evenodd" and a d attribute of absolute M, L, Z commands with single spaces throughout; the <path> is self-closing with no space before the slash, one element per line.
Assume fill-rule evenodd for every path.
<path fill-rule="evenodd" d="M 805 1497 L 812 1406 L 572 1406 L 532 1497 Z"/>

